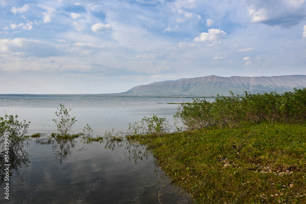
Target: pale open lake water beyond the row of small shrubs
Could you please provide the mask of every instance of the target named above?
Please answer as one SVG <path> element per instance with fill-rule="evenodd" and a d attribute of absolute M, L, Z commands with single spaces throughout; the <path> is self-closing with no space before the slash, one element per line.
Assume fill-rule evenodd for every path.
<path fill-rule="evenodd" d="M 31 121 L 29 133 L 56 132 L 52 119 L 54 112 L 62 103 L 72 108 L 71 116 L 76 116 L 74 132 L 83 130 L 89 123 L 94 135 L 115 128 L 115 131 L 128 129 L 129 122 L 140 121 L 144 116 L 165 117 L 173 124 L 173 115 L 177 112 L 177 104 L 192 102 L 190 98 L 40 98 L 40 97 L 0 97 L 0 116 L 6 113 L 18 115 L 19 121 Z"/>

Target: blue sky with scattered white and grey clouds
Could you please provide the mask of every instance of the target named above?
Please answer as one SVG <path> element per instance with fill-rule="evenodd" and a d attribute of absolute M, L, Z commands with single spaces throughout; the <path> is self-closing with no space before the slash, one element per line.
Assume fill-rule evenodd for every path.
<path fill-rule="evenodd" d="M 0 94 L 306 75 L 306 0 L 1 0 Z"/>

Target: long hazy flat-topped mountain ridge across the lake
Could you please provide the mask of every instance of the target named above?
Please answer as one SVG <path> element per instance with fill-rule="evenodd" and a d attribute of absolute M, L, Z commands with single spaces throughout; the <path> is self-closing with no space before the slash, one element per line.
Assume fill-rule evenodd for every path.
<path fill-rule="evenodd" d="M 162 81 L 133 87 L 125 92 L 135 97 L 210 97 L 212 95 L 243 94 L 244 90 L 250 93 L 276 91 L 284 93 L 293 91 L 293 88 L 306 87 L 306 75 L 288 76 L 204 76 L 176 81 Z M 123 94 L 123 93 L 121 93 Z"/>

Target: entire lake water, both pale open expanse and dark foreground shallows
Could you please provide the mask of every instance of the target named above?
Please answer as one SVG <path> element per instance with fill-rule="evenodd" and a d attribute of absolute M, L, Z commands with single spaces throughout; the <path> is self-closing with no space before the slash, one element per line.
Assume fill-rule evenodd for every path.
<path fill-rule="evenodd" d="M 89 123 L 94 135 L 126 131 L 142 117 L 166 117 L 173 123 L 180 98 L 0 98 L 1 116 L 31 121 L 29 133 L 56 132 L 52 119 L 58 104 L 71 107 L 74 132 Z M 113 113 L 113 114 L 112 114 Z M 55 117 L 54 117 L 55 116 Z M 111 116 L 111 117 L 110 117 Z M 1 154 L 1 163 L 4 155 Z M 29 139 L 10 152 L 9 200 L 4 199 L 1 168 L 0 203 L 192 203 L 171 185 L 145 147 L 137 144 Z M 163 187 L 165 185 L 165 187 Z"/>

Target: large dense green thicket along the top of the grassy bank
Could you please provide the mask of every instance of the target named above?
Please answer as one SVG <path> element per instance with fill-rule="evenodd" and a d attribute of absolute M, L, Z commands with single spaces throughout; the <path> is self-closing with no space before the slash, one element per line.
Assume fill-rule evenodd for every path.
<path fill-rule="evenodd" d="M 276 92 L 245 96 L 219 96 L 214 102 L 193 99 L 183 104 L 174 115 L 176 124 L 187 130 L 206 127 L 239 127 L 247 122 L 305 123 L 306 88 L 294 89 L 282 95 Z M 180 125 L 182 123 L 182 126 Z M 178 127 L 177 127 L 178 128 Z M 179 128 L 178 128 L 179 129 Z"/>

